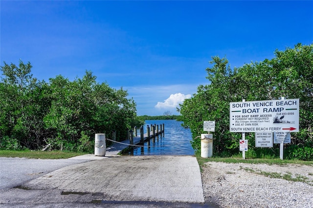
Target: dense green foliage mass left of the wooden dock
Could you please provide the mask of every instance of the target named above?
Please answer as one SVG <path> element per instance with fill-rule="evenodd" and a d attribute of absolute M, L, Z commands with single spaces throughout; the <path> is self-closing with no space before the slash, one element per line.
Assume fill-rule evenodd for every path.
<path fill-rule="evenodd" d="M 95 133 L 116 139 L 138 124 L 136 104 L 127 91 L 97 83 L 86 71 L 69 81 L 59 75 L 49 82 L 32 77 L 31 64 L 1 66 L 0 148 L 92 151 Z M 140 124 L 140 123 L 139 123 Z"/>

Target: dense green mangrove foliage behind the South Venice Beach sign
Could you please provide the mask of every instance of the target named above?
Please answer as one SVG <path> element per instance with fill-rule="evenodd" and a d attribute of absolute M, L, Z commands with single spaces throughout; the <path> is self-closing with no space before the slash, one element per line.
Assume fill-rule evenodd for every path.
<path fill-rule="evenodd" d="M 209 84 L 198 86 L 197 93 L 180 105 L 185 126 L 193 138 L 203 132 L 203 121 L 215 121 L 215 155 L 232 155 L 239 151 L 241 133 L 229 132 L 229 103 L 262 100 L 300 99 L 300 130 L 291 133 L 285 156 L 313 160 L 313 44 L 297 44 L 285 51 L 276 50 L 275 58 L 230 68 L 226 58 L 212 57 L 206 69 Z M 249 154 L 279 154 L 272 149 L 256 148 L 254 133 L 246 133 Z M 192 145 L 200 149 L 200 139 Z"/>

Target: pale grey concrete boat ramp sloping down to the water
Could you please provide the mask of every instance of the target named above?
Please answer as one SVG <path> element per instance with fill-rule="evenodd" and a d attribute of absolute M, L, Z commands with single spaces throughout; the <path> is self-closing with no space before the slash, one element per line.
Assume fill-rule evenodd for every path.
<path fill-rule="evenodd" d="M 196 157 L 118 156 L 125 148 L 118 145 L 105 157 L 70 158 L 81 163 L 1 189 L 1 207 L 212 207 L 204 204 Z"/>

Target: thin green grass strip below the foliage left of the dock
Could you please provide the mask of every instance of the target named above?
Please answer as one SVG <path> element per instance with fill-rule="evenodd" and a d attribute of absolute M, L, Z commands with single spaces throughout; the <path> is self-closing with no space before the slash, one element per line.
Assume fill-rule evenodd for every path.
<path fill-rule="evenodd" d="M 0 150 L 0 157 L 24 157 L 34 159 L 67 159 L 78 155 L 84 155 L 84 152 L 67 151 L 32 151 L 32 150 Z"/>

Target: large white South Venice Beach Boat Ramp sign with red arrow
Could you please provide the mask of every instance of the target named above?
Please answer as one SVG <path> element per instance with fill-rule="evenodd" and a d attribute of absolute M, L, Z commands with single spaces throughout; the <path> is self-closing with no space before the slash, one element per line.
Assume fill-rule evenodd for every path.
<path fill-rule="evenodd" d="M 299 99 L 230 103 L 230 132 L 299 132 Z"/>

